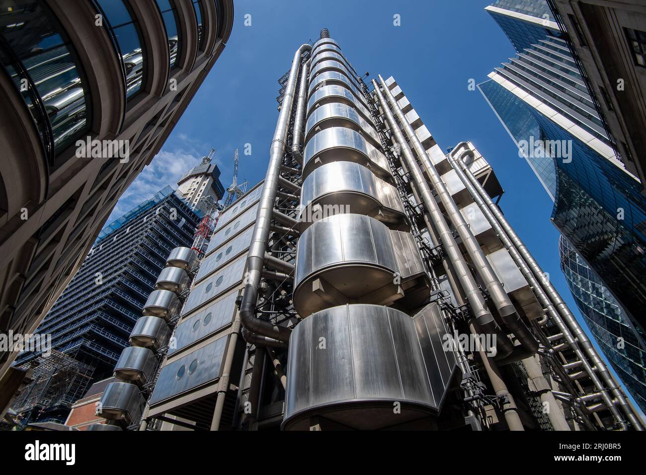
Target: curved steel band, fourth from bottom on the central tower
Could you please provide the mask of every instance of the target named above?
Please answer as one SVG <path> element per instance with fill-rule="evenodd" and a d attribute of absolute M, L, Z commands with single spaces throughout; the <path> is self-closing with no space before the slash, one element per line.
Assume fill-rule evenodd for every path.
<path fill-rule="evenodd" d="M 368 158 L 371 164 L 379 167 L 382 173 L 390 174 L 386 156 L 370 145 L 370 143 L 366 142 L 366 139 L 359 132 L 348 129 L 347 127 L 330 127 L 311 136 L 305 146 L 304 166 L 318 154 L 336 149 L 337 147 L 359 152 L 360 155 Z"/>

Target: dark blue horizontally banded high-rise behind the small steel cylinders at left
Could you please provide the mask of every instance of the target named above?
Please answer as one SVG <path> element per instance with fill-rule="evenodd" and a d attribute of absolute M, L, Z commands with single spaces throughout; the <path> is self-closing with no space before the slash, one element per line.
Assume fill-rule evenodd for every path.
<path fill-rule="evenodd" d="M 167 186 L 105 226 L 36 333 L 52 335 L 53 350 L 89 366 L 92 381 L 110 377 L 169 253 L 191 246 L 198 213 Z M 23 352 L 16 365 L 29 366 L 39 357 L 41 352 Z M 52 383 L 34 381 L 32 386 L 36 385 Z M 30 422 L 62 423 L 78 397 L 68 394 L 71 389 L 62 390 L 55 400 L 41 404 L 38 394 L 49 391 L 49 387 L 27 388 L 21 399 L 25 405 L 18 406 L 18 401 L 14 409 Z M 36 396 L 27 397 L 32 393 Z"/>

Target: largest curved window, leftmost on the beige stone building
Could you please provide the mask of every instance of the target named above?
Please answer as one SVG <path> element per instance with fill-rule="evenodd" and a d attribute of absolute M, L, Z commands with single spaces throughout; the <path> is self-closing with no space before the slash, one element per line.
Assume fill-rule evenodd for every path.
<path fill-rule="evenodd" d="M 21 92 L 52 163 L 87 132 L 90 96 L 74 47 L 42 2 L 3 2 L 0 63 Z"/>

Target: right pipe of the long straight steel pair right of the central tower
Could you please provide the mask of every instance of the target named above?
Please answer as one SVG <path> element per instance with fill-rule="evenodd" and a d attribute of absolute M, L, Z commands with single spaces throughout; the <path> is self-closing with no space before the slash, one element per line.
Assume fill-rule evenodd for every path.
<path fill-rule="evenodd" d="M 448 215 L 450 222 L 452 222 L 453 227 L 455 227 L 455 230 L 462 239 L 464 248 L 474 264 L 475 272 L 483 281 L 485 289 L 488 291 L 502 321 L 510 332 L 514 332 L 518 341 L 523 346 L 526 348 L 535 348 L 534 351 L 536 351 L 538 349 L 536 339 L 532 337 L 528 328 L 525 326 L 525 323 L 516 311 L 516 306 L 514 306 L 503 288 L 503 284 L 501 284 L 495 275 L 494 269 L 486 259 L 485 253 L 483 253 L 480 244 L 478 244 L 470 227 L 466 224 L 464 216 L 460 213 L 457 204 L 455 204 L 450 193 L 448 193 L 446 185 L 444 185 L 439 173 L 437 173 L 437 170 L 435 170 L 430 158 L 428 158 L 421 140 L 419 140 L 417 134 L 415 134 L 412 125 L 408 122 L 406 115 L 397 104 L 397 101 L 390 92 L 390 89 L 388 89 L 386 81 L 384 81 L 384 78 L 382 78 L 380 74 L 378 77 L 384 89 L 384 94 L 386 94 L 386 98 L 388 98 L 393 112 L 395 112 L 395 116 L 397 116 L 399 123 L 402 125 L 404 134 L 406 134 L 406 137 L 410 140 L 410 143 L 412 143 L 413 149 L 415 149 L 415 153 L 417 154 L 422 167 L 424 167 L 424 171 L 426 171 L 433 189 L 437 192 L 444 209 L 446 209 L 446 214 Z M 397 128 L 399 129 L 399 127 Z"/>

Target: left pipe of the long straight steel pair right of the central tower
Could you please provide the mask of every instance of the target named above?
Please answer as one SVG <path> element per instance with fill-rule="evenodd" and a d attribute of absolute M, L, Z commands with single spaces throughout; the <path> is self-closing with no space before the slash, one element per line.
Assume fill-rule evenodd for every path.
<path fill-rule="evenodd" d="M 397 143 L 401 145 L 401 147 L 399 147 L 401 151 L 399 158 L 400 160 L 402 158 L 404 159 L 406 168 L 408 168 L 409 173 L 412 175 L 412 180 L 415 183 L 415 187 L 417 187 L 419 195 L 422 198 L 422 202 L 426 207 L 426 213 L 428 213 L 428 215 L 430 216 L 430 220 L 435 227 L 437 236 L 440 238 L 444 252 L 446 252 L 448 260 L 450 260 L 451 262 L 451 266 L 455 272 L 455 275 L 457 275 L 466 301 L 469 303 L 470 309 L 481 330 L 485 333 L 495 335 L 496 354 L 500 355 L 500 357 L 506 357 L 511 354 L 513 350 L 512 343 L 508 339 L 507 335 L 505 335 L 505 333 L 503 333 L 501 328 L 498 326 L 497 322 L 494 319 L 494 315 L 492 315 L 492 313 L 487 308 L 485 298 L 480 292 L 475 282 L 475 278 L 472 275 L 468 264 L 466 264 L 464 256 L 457 246 L 457 242 L 455 242 L 453 233 L 446 223 L 442 211 L 440 211 L 437 202 L 435 202 L 435 198 L 431 194 L 428 183 L 426 182 L 426 180 L 424 180 L 424 175 L 422 175 L 422 171 L 415 161 L 413 152 L 404 139 L 404 134 L 402 134 L 402 132 L 399 130 L 397 122 L 395 121 L 395 117 L 393 116 L 390 109 L 388 109 L 388 103 L 386 103 L 384 96 L 379 90 L 377 81 L 373 79 L 372 83 L 375 88 L 375 94 L 377 94 L 379 104 L 384 111 L 386 120 L 388 121 L 390 129 L 393 132 L 393 138 L 397 141 Z"/>

